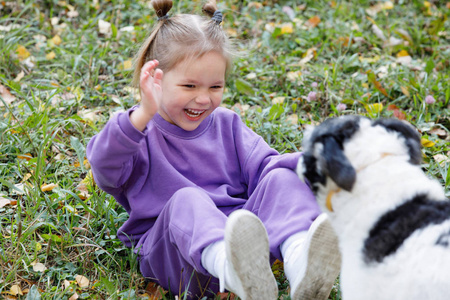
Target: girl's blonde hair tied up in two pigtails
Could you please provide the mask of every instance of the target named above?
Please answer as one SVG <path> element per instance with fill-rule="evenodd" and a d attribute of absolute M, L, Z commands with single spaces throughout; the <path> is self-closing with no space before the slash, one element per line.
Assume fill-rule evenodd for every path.
<path fill-rule="evenodd" d="M 210 18 L 193 14 L 169 17 L 172 0 L 152 0 L 151 4 L 158 16 L 158 23 L 135 56 L 134 86 L 139 87 L 141 69 L 153 59 L 159 61 L 158 68 L 167 72 L 185 59 L 195 59 L 217 51 L 225 58 L 227 70 L 230 69 L 234 49 L 214 14 L 218 13 L 215 0 L 209 0 L 203 6 L 203 12 Z"/>

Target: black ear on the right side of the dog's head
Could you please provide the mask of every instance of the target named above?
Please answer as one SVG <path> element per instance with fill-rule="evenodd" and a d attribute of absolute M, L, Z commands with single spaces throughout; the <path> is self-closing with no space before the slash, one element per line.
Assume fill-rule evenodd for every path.
<path fill-rule="evenodd" d="M 420 136 L 412 125 L 397 119 L 378 119 L 373 122 L 373 126 L 375 125 L 381 125 L 388 131 L 398 132 L 405 139 L 409 161 L 414 165 L 420 165 L 422 162 Z"/>

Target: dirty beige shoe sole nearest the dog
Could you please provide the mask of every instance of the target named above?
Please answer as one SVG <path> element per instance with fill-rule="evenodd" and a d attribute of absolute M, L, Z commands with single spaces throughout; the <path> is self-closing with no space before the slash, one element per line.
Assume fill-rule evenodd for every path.
<path fill-rule="evenodd" d="M 325 214 L 318 219 L 318 225 L 312 228 L 314 233 L 307 241 L 309 243 L 305 244 L 305 247 L 309 247 L 305 276 L 292 295 L 292 300 L 328 299 L 340 272 L 341 254 L 337 236 Z"/>

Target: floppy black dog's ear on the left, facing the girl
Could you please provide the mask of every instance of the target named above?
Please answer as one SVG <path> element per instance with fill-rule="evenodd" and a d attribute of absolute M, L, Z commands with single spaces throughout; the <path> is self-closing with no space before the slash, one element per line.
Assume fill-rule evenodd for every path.
<path fill-rule="evenodd" d="M 342 146 L 332 137 L 322 140 L 324 159 L 323 170 L 342 189 L 351 191 L 356 181 L 356 171 L 344 154 Z"/>

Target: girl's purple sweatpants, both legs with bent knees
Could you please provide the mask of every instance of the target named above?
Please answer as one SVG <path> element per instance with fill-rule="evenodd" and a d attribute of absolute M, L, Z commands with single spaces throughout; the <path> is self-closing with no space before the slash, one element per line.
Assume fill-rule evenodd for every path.
<path fill-rule="evenodd" d="M 200 188 L 180 189 L 143 237 L 142 274 L 175 295 L 189 291 L 191 299 L 212 297 L 219 291 L 218 279 L 203 268 L 201 254 L 224 238 L 227 216 L 237 209 L 253 212 L 264 223 L 273 260 L 282 260 L 280 244 L 307 230 L 320 213 L 310 189 L 289 169 L 270 171 L 238 206 L 217 207 Z"/>

